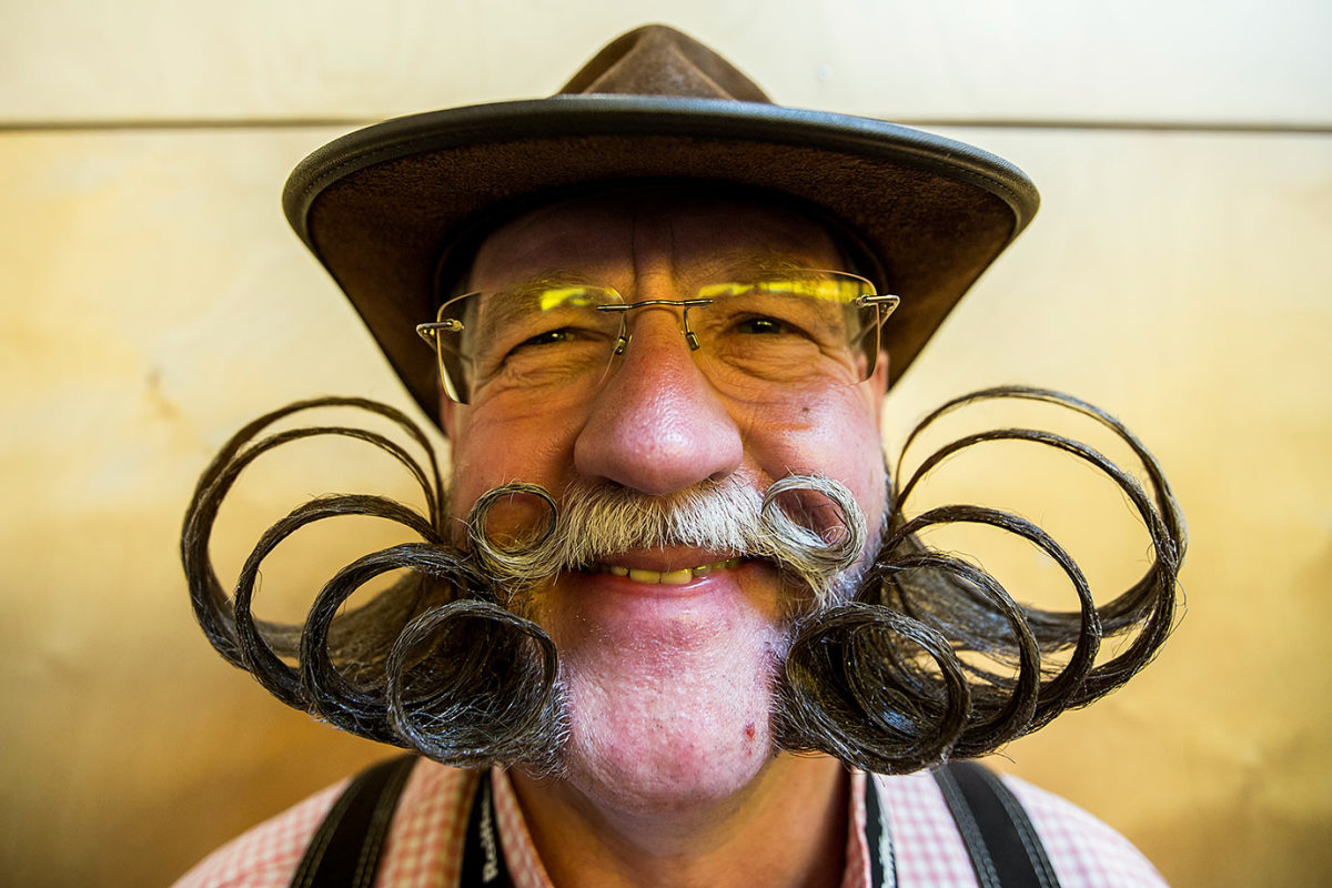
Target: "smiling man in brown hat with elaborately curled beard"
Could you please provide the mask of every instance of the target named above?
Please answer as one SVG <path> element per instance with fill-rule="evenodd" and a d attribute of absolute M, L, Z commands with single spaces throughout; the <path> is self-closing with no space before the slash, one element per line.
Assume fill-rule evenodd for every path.
<path fill-rule="evenodd" d="M 766 104 L 666 28 L 611 43 L 565 92 L 353 133 L 288 185 L 297 232 L 448 434 L 452 491 L 360 433 L 414 470 L 429 514 L 316 501 L 228 600 L 206 558 L 217 506 L 308 433 L 250 439 L 314 405 L 265 417 L 196 491 L 196 608 L 284 702 L 442 764 L 321 793 L 181 884 L 1158 884 L 1066 803 L 919 771 L 1118 687 L 1171 624 L 1179 515 L 1095 409 L 1004 393 L 1124 434 L 1155 503 L 1076 442 L 995 437 L 1102 466 L 1143 514 L 1156 563 L 1099 612 L 1039 529 L 971 507 L 907 522 L 915 479 L 896 494 L 884 470 L 890 379 L 1026 225 L 1030 182 L 947 140 Z M 424 542 L 341 571 L 304 628 L 256 623 L 262 558 L 346 511 Z M 1080 611 L 1027 611 L 926 550 L 915 531 L 944 521 L 1031 539 Z M 414 574 L 337 616 L 397 567 Z"/>

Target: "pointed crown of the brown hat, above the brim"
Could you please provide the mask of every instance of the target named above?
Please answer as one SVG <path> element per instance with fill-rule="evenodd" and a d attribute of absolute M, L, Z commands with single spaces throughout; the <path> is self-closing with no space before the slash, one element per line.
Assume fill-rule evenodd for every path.
<path fill-rule="evenodd" d="M 735 65 L 666 25 L 645 25 L 621 35 L 593 56 L 559 92 L 771 104 L 759 85 Z"/>

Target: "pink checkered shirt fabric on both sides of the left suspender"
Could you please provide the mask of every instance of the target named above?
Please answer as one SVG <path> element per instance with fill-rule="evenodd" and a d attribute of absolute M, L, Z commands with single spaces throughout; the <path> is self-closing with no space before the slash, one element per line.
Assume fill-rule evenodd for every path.
<path fill-rule="evenodd" d="M 446 856 L 454 840 L 458 800 L 470 771 L 420 760 L 412 770 L 385 839 L 380 884 Z M 341 780 L 226 843 L 180 877 L 173 888 L 285 888 L 310 839 L 342 795 Z"/>

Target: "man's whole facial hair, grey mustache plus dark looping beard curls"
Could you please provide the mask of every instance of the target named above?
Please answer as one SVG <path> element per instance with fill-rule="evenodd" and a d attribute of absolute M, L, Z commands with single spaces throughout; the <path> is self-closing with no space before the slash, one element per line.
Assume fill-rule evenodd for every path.
<path fill-rule="evenodd" d="M 1103 696 L 1155 656 L 1173 622 L 1185 545 L 1183 517 L 1160 466 L 1108 414 L 1054 391 L 991 389 L 935 410 L 907 438 L 903 454 L 939 417 L 995 398 L 1044 401 L 1096 419 L 1142 461 L 1152 495 L 1086 445 L 1046 431 L 1004 429 L 962 438 L 931 454 L 900 495 L 892 495 L 890 482 L 883 543 L 852 583 L 847 576 L 863 549 L 863 517 L 842 485 L 807 477 L 779 479 L 762 497 L 726 482 L 669 498 L 587 487 L 566 491 L 563 511 L 541 487 L 505 485 L 473 506 L 470 545 L 460 551 L 444 531 L 444 485 L 420 429 L 385 405 L 321 398 L 266 414 L 222 447 L 194 490 L 181 558 L 194 614 L 209 642 L 288 706 L 445 764 L 518 764 L 535 774 L 559 770 L 559 748 L 567 736 L 565 696 L 555 647 L 541 627 L 509 610 L 515 596 L 559 571 L 647 545 L 643 541 L 765 558 L 778 567 L 783 588 L 798 590 L 797 599 L 803 592 L 787 608 L 793 642 L 778 680 L 775 743 L 791 751 L 826 752 L 872 772 L 908 772 L 948 758 L 984 755 L 1067 708 Z M 254 441 L 280 419 L 325 406 L 386 417 L 425 451 L 426 465 L 384 435 L 356 427 L 314 426 Z M 240 571 L 234 595 L 228 596 L 208 554 L 222 499 L 257 457 L 316 435 L 348 435 L 389 453 L 422 490 L 426 514 L 384 497 L 314 499 L 264 533 Z M 1154 560 L 1144 576 L 1098 607 L 1072 558 L 1018 515 L 944 506 L 904 518 L 903 505 L 918 482 L 943 459 L 1004 439 L 1060 449 L 1110 475 L 1151 535 Z M 831 503 L 840 527 L 831 533 L 811 529 L 782 507 L 783 497 L 807 491 Z M 534 537 L 497 546 L 486 534 L 486 518 L 497 502 L 514 495 L 545 502 L 549 521 Z M 723 507 L 706 507 L 718 498 Z M 304 624 L 256 620 L 252 600 L 264 558 L 300 527 L 353 514 L 397 522 L 421 542 L 372 553 L 340 570 L 317 594 Z M 602 521 L 589 522 L 589 514 Z M 1066 574 L 1079 608 L 1064 612 L 1019 604 L 984 570 L 919 541 L 919 531 L 947 523 L 990 525 L 1030 541 Z M 587 533 L 590 527 L 598 530 Z M 338 614 L 364 583 L 402 568 L 408 574 L 369 603 Z M 1123 652 L 1096 664 L 1103 638 L 1130 635 Z M 1006 674 L 959 656 L 968 652 L 1003 666 Z M 1064 654 L 1062 668 L 1047 664 Z M 297 664 L 288 666 L 284 658 Z"/>

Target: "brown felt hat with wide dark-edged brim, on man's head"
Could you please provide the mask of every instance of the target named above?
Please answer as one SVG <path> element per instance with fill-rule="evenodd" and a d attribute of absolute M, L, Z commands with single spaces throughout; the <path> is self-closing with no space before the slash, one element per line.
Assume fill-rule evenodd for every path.
<path fill-rule="evenodd" d="M 866 117 L 774 105 L 686 35 L 611 41 L 550 99 L 450 108 L 357 130 L 292 172 L 286 218 L 365 320 L 412 397 L 438 413 L 430 349 L 445 285 L 497 220 L 609 182 L 693 180 L 810 206 L 854 234 L 902 297 L 892 377 L 1018 236 L 1039 197 L 1012 164 Z"/>

